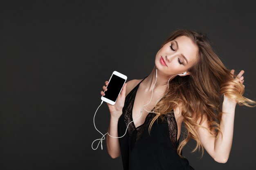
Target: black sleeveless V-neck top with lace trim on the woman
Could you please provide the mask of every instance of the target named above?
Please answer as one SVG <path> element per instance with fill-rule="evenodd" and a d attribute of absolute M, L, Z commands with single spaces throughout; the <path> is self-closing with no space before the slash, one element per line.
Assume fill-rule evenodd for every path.
<path fill-rule="evenodd" d="M 124 135 L 132 121 L 132 108 L 139 84 L 126 96 L 123 114 L 118 121 L 119 137 Z M 173 111 L 166 114 L 163 121 L 155 121 L 149 135 L 148 127 L 153 117 L 155 113 L 148 113 L 144 124 L 137 128 L 133 122 L 130 123 L 126 135 L 119 138 L 124 170 L 194 170 L 187 159 L 177 154 L 179 141 Z"/>

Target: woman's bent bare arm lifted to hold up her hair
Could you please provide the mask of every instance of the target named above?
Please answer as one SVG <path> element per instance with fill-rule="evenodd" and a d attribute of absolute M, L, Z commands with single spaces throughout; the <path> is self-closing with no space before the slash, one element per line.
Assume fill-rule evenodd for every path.
<path fill-rule="evenodd" d="M 231 72 L 234 74 L 234 71 Z M 243 73 L 244 71 L 241 71 L 238 74 L 240 80 L 237 80 L 241 81 L 242 83 L 244 82 L 243 77 L 241 77 Z M 236 101 L 229 99 L 226 95 L 224 95 L 222 104 L 223 114 L 220 121 L 220 129 L 222 134 L 219 133 L 218 138 L 211 135 L 208 130 L 204 128 L 199 128 L 198 130 L 198 135 L 203 147 L 205 150 L 207 150 L 209 155 L 211 155 L 211 157 L 213 157 L 213 159 L 219 163 L 226 163 L 229 158 L 234 133 L 235 108 Z M 203 119 L 204 121 L 201 125 L 209 129 L 207 119 L 205 117 Z"/>

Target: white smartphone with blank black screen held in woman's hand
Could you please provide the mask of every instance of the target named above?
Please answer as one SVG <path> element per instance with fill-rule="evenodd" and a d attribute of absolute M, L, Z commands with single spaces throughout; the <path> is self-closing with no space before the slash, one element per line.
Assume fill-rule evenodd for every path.
<path fill-rule="evenodd" d="M 117 71 L 114 71 L 108 81 L 108 90 L 104 93 L 104 96 L 101 96 L 101 100 L 109 104 L 115 105 L 117 97 L 121 93 L 121 90 L 127 80 L 127 76 L 121 74 Z"/>

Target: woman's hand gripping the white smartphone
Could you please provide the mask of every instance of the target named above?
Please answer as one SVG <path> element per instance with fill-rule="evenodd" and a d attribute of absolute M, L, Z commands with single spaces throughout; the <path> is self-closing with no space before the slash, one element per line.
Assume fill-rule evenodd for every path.
<path fill-rule="evenodd" d="M 110 115 L 112 117 L 119 118 L 123 112 L 124 101 L 125 101 L 125 97 L 126 97 L 126 85 L 127 85 L 127 83 L 124 84 L 120 95 L 117 97 L 117 101 L 116 101 L 115 105 L 107 103 L 108 109 L 110 111 Z M 108 81 L 106 81 L 105 86 L 103 86 L 104 92 L 108 90 L 108 88 L 106 86 L 108 86 Z M 101 91 L 101 95 L 104 96 L 105 95 L 104 92 Z"/>

